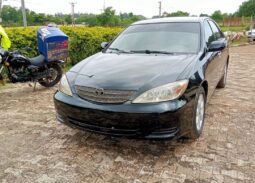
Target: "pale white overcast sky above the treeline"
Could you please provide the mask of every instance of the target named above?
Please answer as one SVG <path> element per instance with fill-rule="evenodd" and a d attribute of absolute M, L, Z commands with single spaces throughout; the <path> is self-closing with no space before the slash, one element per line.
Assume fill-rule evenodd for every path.
<path fill-rule="evenodd" d="M 104 5 L 112 6 L 117 13 L 133 12 L 150 18 L 159 13 L 159 0 L 25 0 L 26 8 L 38 13 L 70 13 L 70 2 L 75 2 L 75 12 L 99 14 Z M 161 0 L 162 12 L 178 10 L 191 15 L 212 14 L 215 10 L 234 13 L 245 0 Z M 19 7 L 20 0 L 4 0 L 4 5 Z"/>

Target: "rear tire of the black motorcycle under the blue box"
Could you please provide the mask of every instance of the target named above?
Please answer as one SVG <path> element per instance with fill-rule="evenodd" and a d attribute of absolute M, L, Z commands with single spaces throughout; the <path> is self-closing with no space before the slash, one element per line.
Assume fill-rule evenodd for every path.
<path fill-rule="evenodd" d="M 49 88 L 55 86 L 62 77 L 63 71 L 58 64 L 49 65 L 48 70 L 51 72 L 54 71 L 54 76 L 48 76 L 47 78 L 40 79 L 38 82 L 40 85 Z"/>

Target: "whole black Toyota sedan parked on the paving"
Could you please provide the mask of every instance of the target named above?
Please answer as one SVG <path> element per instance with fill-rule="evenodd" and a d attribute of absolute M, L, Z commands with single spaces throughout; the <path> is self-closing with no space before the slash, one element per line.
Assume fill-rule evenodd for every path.
<path fill-rule="evenodd" d="M 112 136 L 198 138 L 226 85 L 229 49 L 209 18 L 144 20 L 74 66 L 54 96 L 57 120 Z"/>

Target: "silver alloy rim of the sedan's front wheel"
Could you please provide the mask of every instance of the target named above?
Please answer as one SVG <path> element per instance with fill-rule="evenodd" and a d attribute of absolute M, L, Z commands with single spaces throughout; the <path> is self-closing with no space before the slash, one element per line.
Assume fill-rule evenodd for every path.
<path fill-rule="evenodd" d="M 203 126 L 204 112 L 205 112 L 204 95 L 200 94 L 197 102 L 196 111 L 196 126 L 198 131 L 200 131 Z"/>

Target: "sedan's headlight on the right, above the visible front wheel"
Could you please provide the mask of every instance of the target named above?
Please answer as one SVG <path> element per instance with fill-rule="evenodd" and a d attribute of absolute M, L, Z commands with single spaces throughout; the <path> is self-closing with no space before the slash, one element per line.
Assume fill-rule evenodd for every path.
<path fill-rule="evenodd" d="M 185 92 L 188 83 L 188 80 L 182 80 L 153 88 L 137 97 L 133 103 L 157 103 L 177 99 Z"/>

